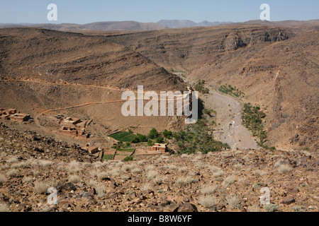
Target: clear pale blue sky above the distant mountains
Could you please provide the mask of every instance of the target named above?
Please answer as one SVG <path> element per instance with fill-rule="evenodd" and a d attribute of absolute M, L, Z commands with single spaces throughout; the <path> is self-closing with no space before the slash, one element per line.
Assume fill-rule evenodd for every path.
<path fill-rule="evenodd" d="M 318 19 L 319 0 L 0 0 L 0 23 L 50 23 L 47 5 L 57 5 L 56 23 L 97 21 L 258 20 L 269 4 L 271 20 Z"/>

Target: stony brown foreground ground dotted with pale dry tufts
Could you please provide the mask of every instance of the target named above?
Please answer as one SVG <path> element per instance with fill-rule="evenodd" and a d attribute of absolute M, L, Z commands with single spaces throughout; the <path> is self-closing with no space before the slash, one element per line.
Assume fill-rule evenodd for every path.
<path fill-rule="evenodd" d="M 100 162 L 0 125 L 0 211 L 318 212 L 318 154 L 236 150 Z M 57 204 L 47 189 L 57 189 Z M 270 191 L 261 205 L 262 188 Z"/>

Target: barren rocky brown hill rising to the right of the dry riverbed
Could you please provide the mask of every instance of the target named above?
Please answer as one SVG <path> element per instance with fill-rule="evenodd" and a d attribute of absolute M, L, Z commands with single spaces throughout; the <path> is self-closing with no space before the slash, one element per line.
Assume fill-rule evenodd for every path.
<path fill-rule="evenodd" d="M 296 32 L 297 31 L 297 32 Z M 267 109 L 277 148 L 318 148 L 318 31 L 267 25 L 185 28 L 111 35 L 167 70 L 228 83 Z"/>

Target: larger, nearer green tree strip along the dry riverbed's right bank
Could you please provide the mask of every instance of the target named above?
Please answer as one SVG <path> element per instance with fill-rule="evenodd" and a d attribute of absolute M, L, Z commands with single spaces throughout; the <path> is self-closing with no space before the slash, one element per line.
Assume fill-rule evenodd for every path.
<path fill-rule="evenodd" d="M 242 112 L 242 122 L 247 129 L 252 131 L 252 135 L 259 138 L 258 145 L 262 148 L 268 148 L 265 145 L 267 134 L 264 131 L 264 125 L 262 119 L 266 117 L 266 114 L 260 110 L 260 107 L 252 106 L 250 103 L 244 105 Z"/>

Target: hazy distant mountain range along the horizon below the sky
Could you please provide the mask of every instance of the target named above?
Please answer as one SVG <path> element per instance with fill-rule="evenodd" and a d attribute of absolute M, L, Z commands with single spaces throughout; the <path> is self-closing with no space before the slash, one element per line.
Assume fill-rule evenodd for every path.
<path fill-rule="evenodd" d="M 250 20 L 243 23 L 232 22 L 209 22 L 203 21 L 201 23 L 195 23 L 191 20 L 159 20 L 157 23 L 141 23 L 137 21 L 109 21 L 109 22 L 97 22 L 87 23 L 84 25 L 76 23 L 0 23 L 0 28 L 45 28 L 50 30 L 60 31 L 81 31 L 81 30 L 101 30 L 101 31 L 140 31 L 140 30 L 162 30 L 167 28 L 192 28 L 192 27 L 210 27 L 217 25 L 242 25 L 242 24 L 264 24 L 264 25 L 284 25 L 287 27 L 293 27 L 296 25 L 317 25 L 319 20 L 285 20 L 278 22 L 269 22 L 261 20 Z"/>

